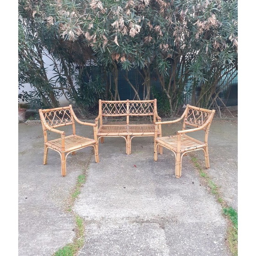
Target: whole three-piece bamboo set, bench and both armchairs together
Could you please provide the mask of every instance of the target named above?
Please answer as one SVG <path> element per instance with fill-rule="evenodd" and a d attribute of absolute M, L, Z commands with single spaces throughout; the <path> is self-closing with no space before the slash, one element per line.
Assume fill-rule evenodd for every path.
<path fill-rule="evenodd" d="M 99 162 L 98 141 L 104 142 L 105 137 L 121 137 L 126 141 L 126 154 L 131 154 L 131 141 L 134 137 L 151 136 L 154 137 L 154 161 L 157 161 L 158 153 L 163 153 L 163 147 L 171 150 L 176 158 L 176 178 L 181 176 L 182 157 L 188 152 L 203 150 L 206 168 L 209 168 L 208 155 L 208 133 L 213 120 L 215 110 L 208 110 L 187 105 L 182 116 L 173 121 L 161 122 L 157 114 L 156 99 L 149 101 L 101 101 L 99 100 L 99 115 L 95 123 L 82 122 L 76 117 L 71 105 L 68 107 L 57 107 L 52 109 L 39 109 L 39 115 L 43 126 L 44 135 L 44 155 L 43 164 L 47 164 L 48 149 L 57 151 L 61 157 L 61 175 L 66 175 L 66 159 L 75 151 L 88 146 L 94 148 L 95 161 Z M 129 117 L 150 116 L 153 123 L 131 124 Z M 126 124 L 103 124 L 102 118 L 125 117 Z M 162 137 L 161 126 L 176 123 L 183 120 L 182 130 L 176 135 Z M 85 138 L 76 134 L 75 121 L 85 126 L 93 128 L 94 138 Z M 100 121 L 100 122 L 99 122 Z M 73 134 L 65 135 L 59 127 L 71 125 Z M 192 127 L 192 128 L 190 128 Z M 187 133 L 204 131 L 204 140 L 194 139 Z M 48 140 L 47 131 L 52 131 L 60 135 L 59 139 Z"/>

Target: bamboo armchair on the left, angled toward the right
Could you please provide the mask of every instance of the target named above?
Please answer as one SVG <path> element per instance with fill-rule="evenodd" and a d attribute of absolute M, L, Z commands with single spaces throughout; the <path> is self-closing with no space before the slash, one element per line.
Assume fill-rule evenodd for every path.
<path fill-rule="evenodd" d="M 51 109 L 39 109 L 39 115 L 43 126 L 44 137 L 44 154 L 43 164 L 47 164 L 48 149 L 57 151 L 61 157 L 61 175 L 66 176 L 66 159 L 69 153 L 75 155 L 75 151 L 83 149 L 88 146 L 94 148 L 95 161 L 99 162 L 98 155 L 98 142 L 96 136 L 96 124 L 81 122 L 75 115 L 71 105 L 68 107 L 57 107 Z M 75 121 L 77 123 L 93 127 L 94 139 L 81 137 L 75 134 Z M 73 134 L 65 136 L 64 131 L 60 131 L 55 128 L 59 128 L 66 125 L 72 125 Z M 48 140 L 47 130 L 59 133 L 61 138 Z"/>

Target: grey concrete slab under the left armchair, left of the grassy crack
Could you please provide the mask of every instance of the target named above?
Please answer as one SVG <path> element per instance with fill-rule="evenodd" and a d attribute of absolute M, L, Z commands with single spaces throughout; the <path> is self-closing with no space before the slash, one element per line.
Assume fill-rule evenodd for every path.
<path fill-rule="evenodd" d="M 92 129 L 78 126 L 78 132 L 91 136 Z M 57 152 L 49 149 L 43 165 L 41 123 L 19 124 L 19 256 L 49 256 L 72 242 L 75 220 L 65 204 L 90 155 L 91 148 L 70 154 L 62 177 Z"/>

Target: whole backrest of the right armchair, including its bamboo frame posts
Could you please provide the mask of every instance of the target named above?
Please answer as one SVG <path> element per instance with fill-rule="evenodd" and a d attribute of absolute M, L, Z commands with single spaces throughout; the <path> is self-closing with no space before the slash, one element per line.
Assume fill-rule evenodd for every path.
<path fill-rule="evenodd" d="M 208 123 L 208 125 L 204 128 L 204 130 L 209 129 L 213 120 L 214 113 L 215 110 L 187 105 L 186 110 L 184 111 L 182 129 L 186 129 L 186 125 L 190 125 L 192 127 L 200 127 L 205 123 Z"/>

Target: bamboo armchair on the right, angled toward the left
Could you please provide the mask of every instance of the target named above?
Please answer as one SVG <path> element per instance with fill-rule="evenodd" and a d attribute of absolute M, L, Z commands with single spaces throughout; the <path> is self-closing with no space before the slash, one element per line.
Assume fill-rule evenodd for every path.
<path fill-rule="evenodd" d="M 157 161 L 157 147 L 163 146 L 170 149 L 176 158 L 175 176 L 181 177 L 181 163 L 183 155 L 195 150 L 203 150 L 206 168 L 210 168 L 208 155 L 208 133 L 213 120 L 215 110 L 208 110 L 199 107 L 187 105 L 184 113 L 180 118 L 173 121 L 166 121 L 155 123 L 155 125 L 165 125 L 169 123 L 176 123 L 183 119 L 183 126 L 181 131 L 177 131 L 176 135 L 157 138 L 155 128 L 155 143 L 154 143 L 154 161 Z M 192 127 L 187 129 L 186 126 Z M 200 141 L 188 136 L 186 133 L 192 133 L 199 130 L 204 130 L 204 141 Z"/>

